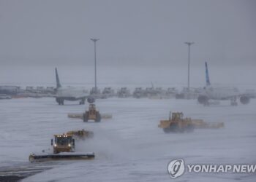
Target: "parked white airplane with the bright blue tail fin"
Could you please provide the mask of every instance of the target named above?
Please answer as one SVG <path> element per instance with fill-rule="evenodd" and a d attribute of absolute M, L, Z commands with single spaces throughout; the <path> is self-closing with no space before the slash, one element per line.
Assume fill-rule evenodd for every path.
<path fill-rule="evenodd" d="M 198 103 L 208 106 L 210 104 L 209 100 L 230 100 L 231 106 L 237 106 L 236 100 L 238 98 L 242 104 L 248 104 L 250 100 L 248 95 L 239 92 L 236 87 L 213 87 L 206 62 L 206 87 L 203 88 L 203 92 L 198 96 Z"/>

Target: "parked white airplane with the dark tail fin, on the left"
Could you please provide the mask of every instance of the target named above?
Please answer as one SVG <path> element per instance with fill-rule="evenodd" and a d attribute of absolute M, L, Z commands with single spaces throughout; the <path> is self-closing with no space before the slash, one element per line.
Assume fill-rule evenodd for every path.
<path fill-rule="evenodd" d="M 80 105 L 85 104 L 86 98 L 89 103 L 94 103 L 94 98 L 89 95 L 88 90 L 77 89 L 74 87 L 63 88 L 61 87 L 61 82 L 59 81 L 59 74 L 57 68 L 55 68 L 56 74 L 56 102 L 59 105 L 64 105 L 64 100 L 80 100 Z"/>

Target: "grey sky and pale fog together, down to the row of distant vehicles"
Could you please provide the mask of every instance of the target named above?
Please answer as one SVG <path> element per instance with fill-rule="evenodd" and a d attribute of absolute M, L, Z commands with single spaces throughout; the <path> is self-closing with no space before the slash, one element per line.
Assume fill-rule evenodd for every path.
<path fill-rule="evenodd" d="M 0 84 L 256 84 L 256 1 L 0 0 Z M 159 84 L 159 85 L 157 85 Z"/>

